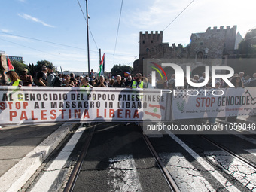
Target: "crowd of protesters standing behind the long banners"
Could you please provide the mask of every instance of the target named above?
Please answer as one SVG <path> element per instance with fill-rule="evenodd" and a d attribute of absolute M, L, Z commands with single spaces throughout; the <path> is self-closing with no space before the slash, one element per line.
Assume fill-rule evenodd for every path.
<path fill-rule="evenodd" d="M 164 80 L 163 78 L 156 79 L 156 84 L 153 86 L 151 84 L 151 75 L 142 76 L 140 73 L 136 74 L 139 75 L 139 79 L 134 75 L 129 75 L 127 77 L 122 77 L 121 75 L 117 75 L 115 78 L 105 78 L 104 76 L 100 75 L 96 77 L 93 73 L 93 69 L 90 72 L 90 77 L 88 75 L 76 75 L 74 73 L 70 74 L 58 74 L 53 72 L 53 66 L 42 66 L 40 72 L 37 72 L 35 77 L 28 75 L 28 69 L 23 69 L 22 75 L 17 75 L 14 71 L 8 71 L 6 73 L 9 78 L 9 82 L 5 82 L 5 80 L 0 81 L 0 85 L 14 85 L 17 84 L 22 86 L 54 86 L 54 81 L 56 81 L 56 77 L 58 76 L 62 83 L 60 86 L 62 87 L 80 87 L 84 86 L 82 82 L 88 81 L 88 85 L 90 87 L 120 87 L 120 88 L 127 88 L 133 87 L 133 84 L 136 81 L 142 81 L 144 88 L 158 88 L 158 89 L 191 89 L 196 88 L 192 87 L 187 83 L 187 79 L 184 78 L 184 86 L 183 87 L 176 87 L 175 86 L 175 74 L 171 75 L 169 81 Z M 256 87 L 256 73 L 252 75 L 246 75 L 244 72 L 239 72 L 239 74 L 234 74 L 232 78 L 229 79 L 230 82 L 235 87 Z M 190 78 L 190 81 L 193 83 L 202 83 L 205 80 L 205 72 L 202 75 L 193 75 Z M 222 79 L 217 79 L 215 81 L 215 88 L 225 88 L 228 87 L 227 84 Z M 209 81 L 204 87 L 200 88 L 210 88 L 212 87 L 212 78 L 209 77 Z"/>

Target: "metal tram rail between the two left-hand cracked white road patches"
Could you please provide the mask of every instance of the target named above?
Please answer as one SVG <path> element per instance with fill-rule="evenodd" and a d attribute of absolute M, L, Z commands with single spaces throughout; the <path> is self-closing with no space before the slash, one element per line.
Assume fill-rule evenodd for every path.
<path fill-rule="evenodd" d="M 157 154 L 157 151 L 155 151 L 153 145 L 149 141 L 148 137 L 143 133 L 142 130 L 142 136 L 145 140 L 146 144 L 148 145 L 149 150 L 151 151 L 151 154 L 153 154 L 157 165 L 159 166 L 161 172 L 163 173 L 163 176 L 166 178 L 167 183 L 169 184 L 169 187 L 172 191 L 180 192 L 177 184 L 175 183 L 174 179 L 172 178 L 172 175 L 169 174 L 169 171 L 166 169 L 166 166 L 164 166 L 163 161 L 160 159 L 159 155 Z"/>

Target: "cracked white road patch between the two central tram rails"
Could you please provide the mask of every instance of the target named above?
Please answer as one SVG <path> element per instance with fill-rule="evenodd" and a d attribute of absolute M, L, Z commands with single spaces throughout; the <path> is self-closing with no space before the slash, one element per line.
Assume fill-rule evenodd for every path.
<path fill-rule="evenodd" d="M 120 155 L 109 159 L 109 191 L 142 191 L 133 155 Z"/>

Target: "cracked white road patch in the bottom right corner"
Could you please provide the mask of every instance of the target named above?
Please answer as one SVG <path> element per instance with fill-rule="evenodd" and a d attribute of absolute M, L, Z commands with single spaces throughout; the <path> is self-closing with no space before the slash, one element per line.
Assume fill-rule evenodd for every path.
<path fill-rule="evenodd" d="M 207 151 L 206 158 L 236 178 L 244 187 L 256 191 L 256 172 L 224 151 Z"/>

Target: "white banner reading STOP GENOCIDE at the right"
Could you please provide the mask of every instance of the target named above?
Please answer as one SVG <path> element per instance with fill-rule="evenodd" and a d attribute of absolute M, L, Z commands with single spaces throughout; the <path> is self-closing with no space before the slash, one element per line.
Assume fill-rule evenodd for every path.
<path fill-rule="evenodd" d="M 256 114 L 256 87 L 172 90 L 174 119 Z"/>

